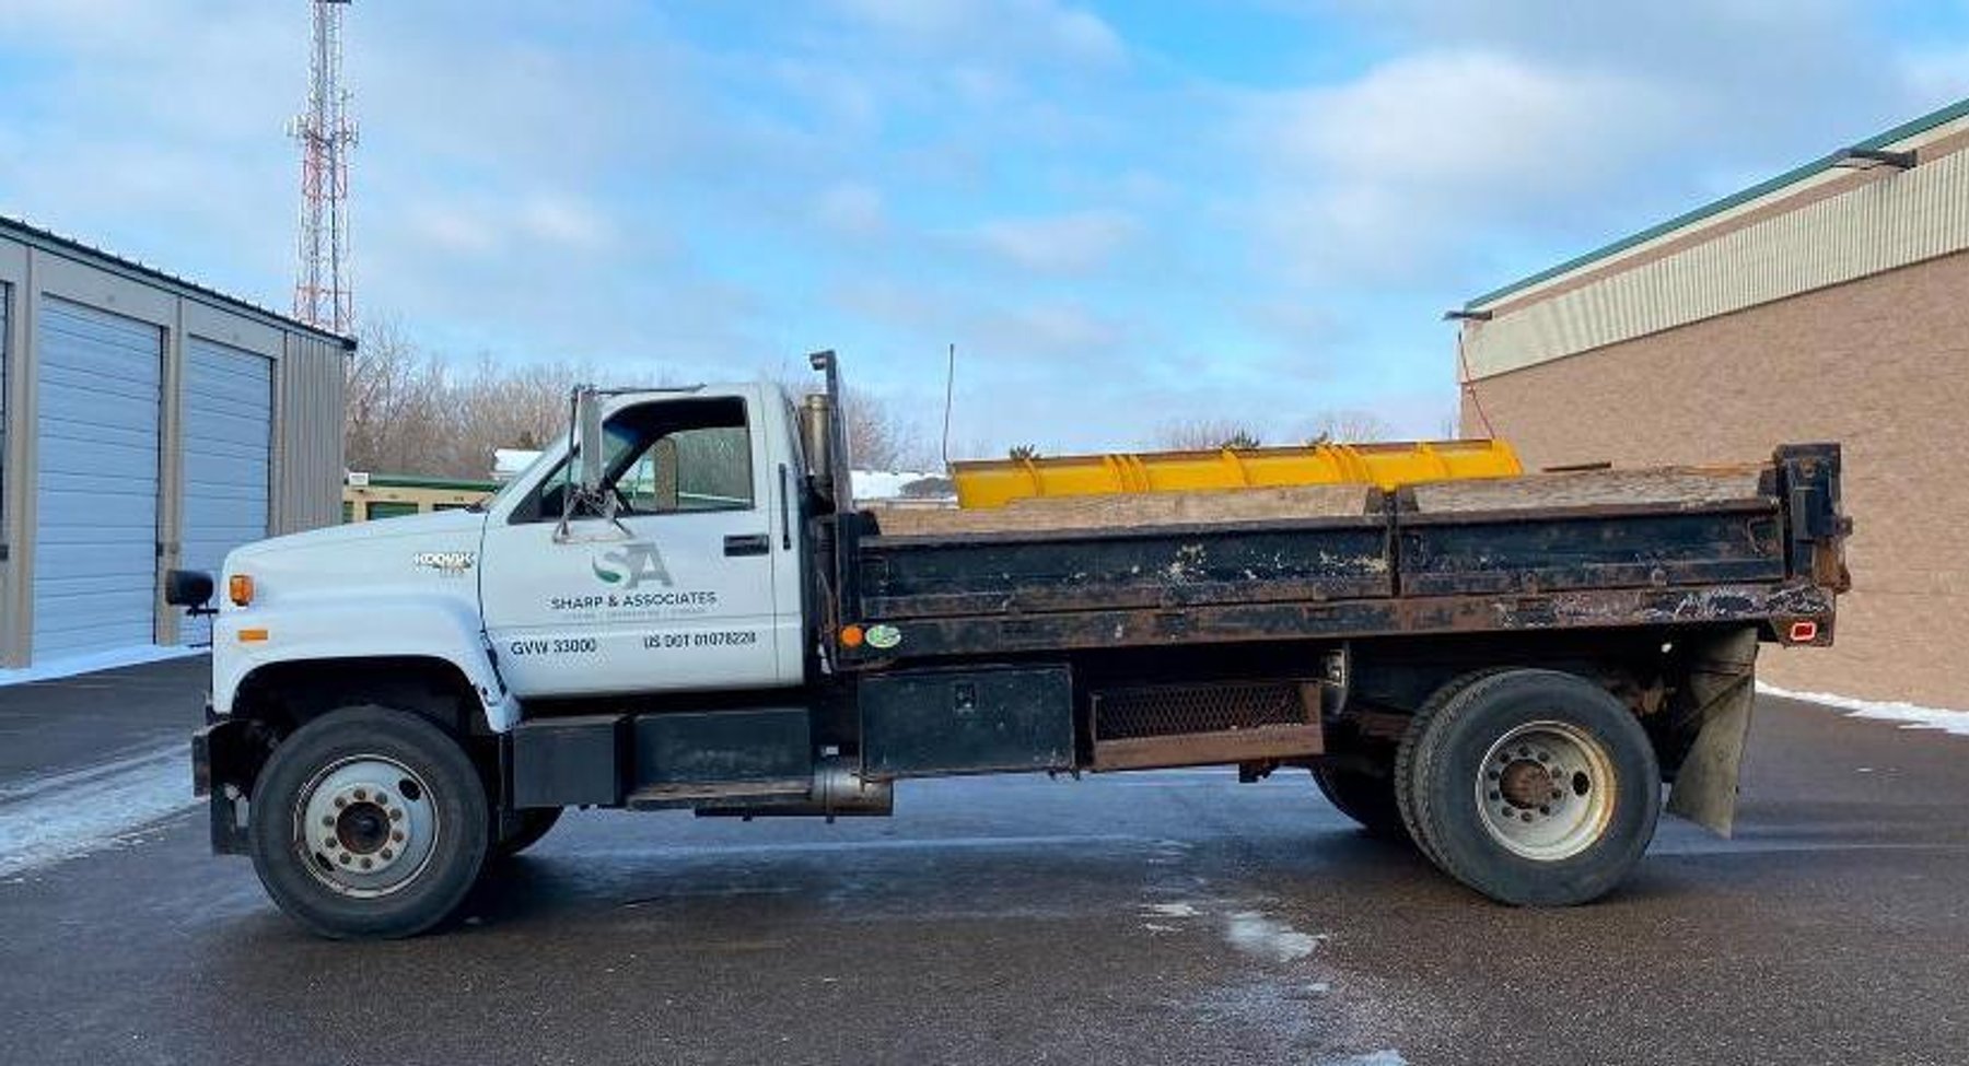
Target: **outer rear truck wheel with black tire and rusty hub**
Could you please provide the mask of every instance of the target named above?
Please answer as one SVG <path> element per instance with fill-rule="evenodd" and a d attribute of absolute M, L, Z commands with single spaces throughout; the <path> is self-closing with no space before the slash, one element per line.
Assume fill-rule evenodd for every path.
<path fill-rule="evenodd" d="M 1502 671 L 1457 686 L 1418 714 L 1400 769 L 1424 854 L 1520 907 L 1611 891 L 1640 861 L 1662 806 L 1660 767 L 1634 714 L 1559 671 Z"/>

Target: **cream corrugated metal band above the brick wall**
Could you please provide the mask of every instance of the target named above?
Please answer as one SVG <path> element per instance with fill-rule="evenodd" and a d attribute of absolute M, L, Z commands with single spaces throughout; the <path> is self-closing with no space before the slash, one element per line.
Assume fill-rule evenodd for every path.
<path fill-rule="evenodd" d="M 1969 248 L 1969 151 L 1465 326 L 1473 378 L 1619 344 Z"/>

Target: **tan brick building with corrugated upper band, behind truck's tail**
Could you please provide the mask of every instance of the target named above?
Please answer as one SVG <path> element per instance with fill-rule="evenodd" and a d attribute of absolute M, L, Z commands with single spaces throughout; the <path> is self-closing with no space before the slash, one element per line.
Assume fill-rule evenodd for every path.
<path fill-rule="evenodd" d="M 1965 149 L 1969 100 L 1469 301 L 1463 431 L 1534 468 L 1841 441 L 1839 647 L 1762 675 L 1969 708 Z"/>

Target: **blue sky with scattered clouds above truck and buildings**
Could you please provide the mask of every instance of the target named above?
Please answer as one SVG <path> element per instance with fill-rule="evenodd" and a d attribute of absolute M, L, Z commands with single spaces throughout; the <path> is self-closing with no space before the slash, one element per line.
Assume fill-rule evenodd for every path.
<path fill-rule="evenodd" d="M 0 4 L 0 212 L 274 307 L 307 10 Z M 358 311 L 461 360 L 809 348 L 953 452 L 1329 409 L 1439 313 L 1969 96 L 1969 0 L 356 0 Z"/>

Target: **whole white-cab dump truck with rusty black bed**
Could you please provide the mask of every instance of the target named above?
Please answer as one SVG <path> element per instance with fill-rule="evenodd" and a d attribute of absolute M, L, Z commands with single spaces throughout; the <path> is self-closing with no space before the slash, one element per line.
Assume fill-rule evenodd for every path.
<path fill-rule="evenodd" d="M 835 818 L 912 777 L 1296 767 L 1479 893 L 1583 903 L 1666 783 L 1727 832 L 1758 643 L 1829 643 L 1845 588 L 1835 444 L 866 511 L 813 366 L 813 395 L 581 387 L 476 509 L 173 570 L 213 616 L 213 848 L 315 932 L 406 936 L 567 806 Z"/>

